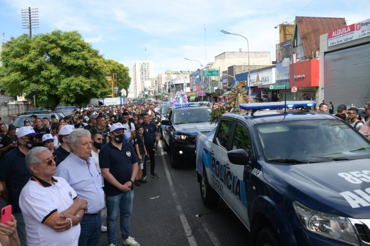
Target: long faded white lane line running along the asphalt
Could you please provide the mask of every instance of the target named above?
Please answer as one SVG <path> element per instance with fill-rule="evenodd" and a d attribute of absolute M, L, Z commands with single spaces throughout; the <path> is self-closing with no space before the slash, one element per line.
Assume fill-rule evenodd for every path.
<path fill-rule="evenodd" d="M 167 162 L 164 159 L 163 148 L 162 148 L 161 157 L 162 157 L 162 163 L 163 163 L 164 171 L 166 172 L 166 176 L 167 176 L 167 181 L 168 181 L 168 184 L 170 186 L 171 194 L 172 194 L 172 197 L 175 201 L 176 210 L 179 213 L 180 220 L 181 220 L 181 223 L 182 223 L 184 231 L 185 231 L 187 242 L 189 243 L 190 246 L 198 246 L 196 244 L 194 236 L 192 235 L 192 231 L 191 231 L 189 222 L 187 222 L 187 219 L 186 219 L 185 214 L 183 212 L 183 208 L 181 207 L 181 204 L 179 202 L 179 198 L 176 194 L 175 186 L 174 186 L 174 183 L 172 181 L 170 171 L 168 170 L 168 167 L 167 167 Z"/>

